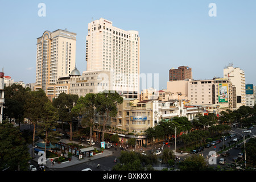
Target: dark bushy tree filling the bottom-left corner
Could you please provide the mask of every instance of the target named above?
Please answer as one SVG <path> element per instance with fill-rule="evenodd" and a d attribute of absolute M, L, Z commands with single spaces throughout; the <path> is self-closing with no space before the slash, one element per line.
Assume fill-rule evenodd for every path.
<path fill-rule="evenodd" d="M 28 145 L 19 129 L 11 123 L 0 124 L 0 170 L 27 171 L 29 160 Z"/>

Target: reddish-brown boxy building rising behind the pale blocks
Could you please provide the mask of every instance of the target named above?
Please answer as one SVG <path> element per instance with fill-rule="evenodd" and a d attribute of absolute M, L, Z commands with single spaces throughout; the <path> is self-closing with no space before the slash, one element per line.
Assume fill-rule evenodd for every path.
<path fill-rule="evenodd" d="M 180 66 L 177 69 L 169 70 L 169 81 L 192 79 L 192 69 L 185 66 Z"/>

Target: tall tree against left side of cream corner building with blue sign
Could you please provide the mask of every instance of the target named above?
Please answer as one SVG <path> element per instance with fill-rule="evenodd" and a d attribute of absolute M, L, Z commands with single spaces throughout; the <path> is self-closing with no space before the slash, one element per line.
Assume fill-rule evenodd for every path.
<path fill-rule="evenodd" d="M 96 111 L 103 117 L 102 123 L 102 141 L 104 141 L 104 133 L 106 122 L 110 117 L 117 115 L 117 104 L 123 103 L 123 97 L 121 97 L 116 91 L 105 90 L 102 93 L 96 94 Z"/>

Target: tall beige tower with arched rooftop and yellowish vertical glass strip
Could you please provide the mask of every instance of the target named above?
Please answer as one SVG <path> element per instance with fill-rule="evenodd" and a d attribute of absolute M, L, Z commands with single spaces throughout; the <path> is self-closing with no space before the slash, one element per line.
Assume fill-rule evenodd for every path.
<path fill-rule="evenodd" d="M 67 30 L 45 31 L 36 44 L 35 90 L 42 88 L 51 99 L 60 78 L 75 68 L 76 34 Z M 51 90 L 47 92 L 47 90 Z"/>

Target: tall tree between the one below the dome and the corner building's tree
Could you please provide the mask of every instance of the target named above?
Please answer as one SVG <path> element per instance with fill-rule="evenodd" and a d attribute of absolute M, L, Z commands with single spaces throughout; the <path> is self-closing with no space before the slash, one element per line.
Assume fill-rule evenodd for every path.
<path fill-rule="evenodd" d="M 85 97 L 79 97 L 76 106 L 72 108 L 73 113 L 83 115 L 81 125 L 83 127 L 90 127 L 90 146 L 92 146 L 93 118 L 96 113 L 95 102 L 96 94 L 88 93 Z"/>

